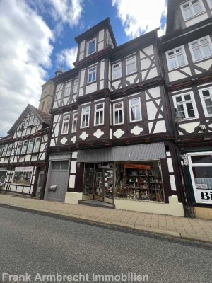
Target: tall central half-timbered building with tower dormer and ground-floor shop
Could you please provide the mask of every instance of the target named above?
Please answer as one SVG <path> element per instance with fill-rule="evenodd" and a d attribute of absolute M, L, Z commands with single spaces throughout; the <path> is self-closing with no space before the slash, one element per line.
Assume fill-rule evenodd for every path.
<path fill-rule="evenodd" d="M 157 30 L 117 46 L 107 18 L 76 42 L 52 79 L 45 199 L 184 215 Z"/>

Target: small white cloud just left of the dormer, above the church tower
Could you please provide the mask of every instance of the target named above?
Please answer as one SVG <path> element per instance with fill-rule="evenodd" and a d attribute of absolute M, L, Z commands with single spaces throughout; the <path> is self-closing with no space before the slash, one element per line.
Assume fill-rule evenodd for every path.
<path fill-rule="evenodd" d="M 59 52 L 57 54 L 57 63 L 59 65 L 63 65 L 66 64 L 67 67 L 69 68 L 73 68 L 73 62 L 76 61 L 76 55 L 77 55 L 77 47 L 71 47 L 70 49 L 64 49 L 61 50 L 61 52 Z"/>

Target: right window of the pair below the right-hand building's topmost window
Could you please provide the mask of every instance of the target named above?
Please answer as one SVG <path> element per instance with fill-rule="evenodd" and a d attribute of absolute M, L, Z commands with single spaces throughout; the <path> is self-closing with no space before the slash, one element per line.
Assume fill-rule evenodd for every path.
<path fill-rule="evenodd" d="M 189 43 L 190 50 L 192 52 L 193 61 L 199 61 L 201 59 L 211 57 L 211 39 L 210 37 L 202 37 L 199 40 Z"/>

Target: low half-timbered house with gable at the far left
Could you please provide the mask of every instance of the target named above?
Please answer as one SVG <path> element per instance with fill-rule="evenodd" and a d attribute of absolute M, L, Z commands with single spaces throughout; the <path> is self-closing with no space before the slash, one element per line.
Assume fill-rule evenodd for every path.
<path fill-rule="evenodd" d="M 40 197 L 46 174 L 51 115 L 28 105 L 0 139 L 0 182 L 5 192 Z"/>

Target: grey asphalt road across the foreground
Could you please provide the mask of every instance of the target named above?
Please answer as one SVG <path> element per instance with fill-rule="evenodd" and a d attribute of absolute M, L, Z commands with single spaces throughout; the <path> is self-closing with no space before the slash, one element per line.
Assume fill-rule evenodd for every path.
<path fill-rule="evenodd" d="M 212 280 L 211 250 L 4 207 L 0 215 L 0 282 Z"/>

